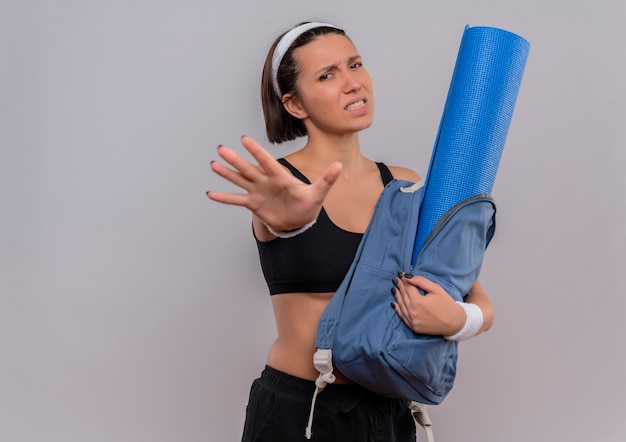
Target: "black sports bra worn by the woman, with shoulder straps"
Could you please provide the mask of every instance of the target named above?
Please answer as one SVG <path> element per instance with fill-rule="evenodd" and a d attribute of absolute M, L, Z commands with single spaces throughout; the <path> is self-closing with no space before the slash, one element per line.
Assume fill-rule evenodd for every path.
<path fill-rule="evenodd" d="M 284 158 L 278 160 L 301 181 L 311 184 Z M 376 163 L 384 185 L 393 180 L 389 168 Z M 317 222 L 291 238 L 259 241 L 259 258 L 270 295 L 295 292 L 335 292 L 350 268 L 362 233 L 336 226 L 322 207 Z"/>

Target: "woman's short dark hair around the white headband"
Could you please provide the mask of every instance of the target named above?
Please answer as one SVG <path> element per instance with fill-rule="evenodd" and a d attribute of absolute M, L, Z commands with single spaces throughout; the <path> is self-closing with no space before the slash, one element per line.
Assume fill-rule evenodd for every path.
<path fill-rule="evenodd" d="M 297 137 L 302 137 L 307 134 L 304 122 L 285 110 L 281 101 L 282 97 L 278 97 L 274 90 L 272 57 L 276 45 L 285 34 L 286 32 L 281 34 L 272 44 L 265 58 L 265 65 L 263 66 L 263 74 L 261 76 L 261 104 L 263 106 L 263 117 L 265 118 L 265 131 L 267 132 L 267 138 L 270 143 L 283 143 L 285 141 L 295 140 Z M 289 47 L 278 67 L 277 81 L 283 95 L 294 94 L 297 96 L 296 80 L 298 78 L 299 67 L 293 56 L 294 50 L 327 34 L 346 35 L 342 29 L 321 26 L 304 32 Z"/>

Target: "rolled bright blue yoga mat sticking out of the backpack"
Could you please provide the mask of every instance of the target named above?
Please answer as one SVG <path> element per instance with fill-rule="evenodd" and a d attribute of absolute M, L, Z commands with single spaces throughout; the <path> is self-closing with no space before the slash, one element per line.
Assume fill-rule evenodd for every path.
<path fill-rule="evenodd" d="M 491 193 L 529 49 L 502 29 L 465 28 L 426 175 L 413 262 L 450 208 Z"/>

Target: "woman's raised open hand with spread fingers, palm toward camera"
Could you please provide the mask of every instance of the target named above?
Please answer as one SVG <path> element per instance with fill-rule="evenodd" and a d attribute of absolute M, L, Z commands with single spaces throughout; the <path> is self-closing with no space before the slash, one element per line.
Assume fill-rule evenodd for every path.
<path fill-rule="evenodd" d="M 252 138 L 243 136 L 241 144 L 258 162 L 242 158 L 220 146 L 218 155 L 234 169 L 211 162 L 211 170 L 244 190 L 244 193 L 207 192 L 213 201 L 249 209 L 265 225 L 276 231 L 293 230 L 315 219 L 332 185 L 341 174 L 342 164 L 328 166 L 312 184 L 294 177 Z"/>

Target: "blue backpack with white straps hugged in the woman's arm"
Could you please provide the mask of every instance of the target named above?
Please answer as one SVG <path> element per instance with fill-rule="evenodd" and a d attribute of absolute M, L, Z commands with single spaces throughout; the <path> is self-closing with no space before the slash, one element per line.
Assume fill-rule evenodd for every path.
<path fill-rule="evenodd" d="M 398 272 L 424 276 L 462 301 L 478 278 L 495 232 L 495 203 L 478 194 L 441 217 L 419 254 L 413 247 L 423 182 L 393 180 L 374 215 L 345 279 L 318 323 L 314 365 L 320 372 L 306 429 L 311 437 L 317 394 L 335 380 L 334 365 L 380 395 L 413 402 L 414 416 L 432 440 L 423 404 L 439 404 L 454 385 L 458 343 L 413 332 L 390 308 Z"/>

